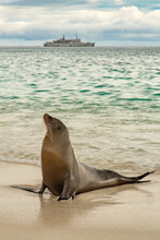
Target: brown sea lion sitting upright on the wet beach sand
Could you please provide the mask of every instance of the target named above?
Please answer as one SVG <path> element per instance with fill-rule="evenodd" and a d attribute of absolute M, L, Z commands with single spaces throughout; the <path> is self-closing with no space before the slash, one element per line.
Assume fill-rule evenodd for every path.
<path fill-rule="evenodd" d="M 74 199 L 75 194 L 126 183 L 140 181 L 153 171 L 138 177 L 125 177 L 118 172 L 98 169 L 77 161 L 70 141 L 69 130 L 59 119 L 44 115 L 47 133 L 41 147 L 42 184 L 39 192 L 34 189 L 21 188 L 42 194 L 48 188 L 60 200 Z M 14 187 L 19 188 L 19 187 Z"/>

